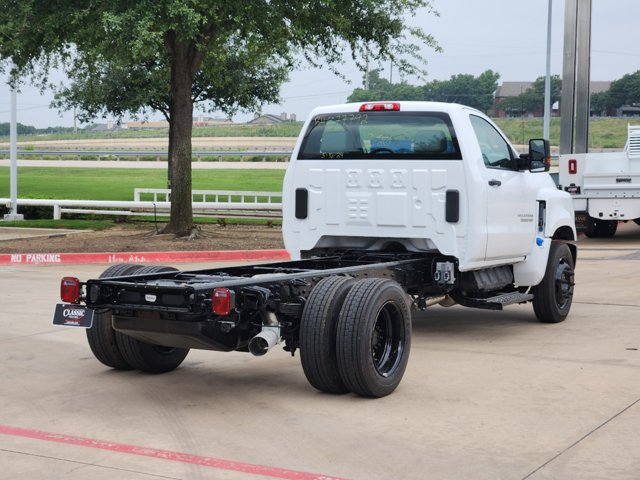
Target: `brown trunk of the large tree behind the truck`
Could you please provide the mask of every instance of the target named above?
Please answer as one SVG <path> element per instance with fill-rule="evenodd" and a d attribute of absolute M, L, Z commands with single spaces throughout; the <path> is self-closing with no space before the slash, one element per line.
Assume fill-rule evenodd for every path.
<path fill-rule="evenodd" d="M 171 62 L 171 106 L 169 119 L 169 168 L 171 169 L 171 217 L 164 233 L 189 235 L 193 226 L 191 204 L 191 131 L 193 76 L 186 45 L 176 42 Z"/>

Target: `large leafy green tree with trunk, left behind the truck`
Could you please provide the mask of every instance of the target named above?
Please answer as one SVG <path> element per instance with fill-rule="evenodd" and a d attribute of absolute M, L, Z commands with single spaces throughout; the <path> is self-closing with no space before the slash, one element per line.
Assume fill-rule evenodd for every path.
<path fill-rule="evenodd" d="M 429 0 L 0 0 L 0 59 L 12 76 L 47 85 L 53 66 L 71 85 L 57 104 L 96 113 L 158 109 L 169 120 L 171 220 L 166 232 L 192 225 L 191 129 L 194 103 L 227 112 L 277 97 L 302 57 L 340 74 L 345 55 L 393 60 L 417 73 L 418 43 L 433 38 L 410 27 Z"/>

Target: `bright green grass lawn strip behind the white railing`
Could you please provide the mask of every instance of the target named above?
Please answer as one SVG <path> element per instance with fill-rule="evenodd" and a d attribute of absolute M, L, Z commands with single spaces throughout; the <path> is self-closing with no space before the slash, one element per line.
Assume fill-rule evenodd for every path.
<path fill-rule="evenodd" d="M 282 191 L 284 170 L 193 170 L 194 190 Z M 18 168 L 18 197 L 133 200 L 134 188 L 166 188 L 164 169 Z M 9 197 L 9 167 L 0 167 L 0 197 Z"/>

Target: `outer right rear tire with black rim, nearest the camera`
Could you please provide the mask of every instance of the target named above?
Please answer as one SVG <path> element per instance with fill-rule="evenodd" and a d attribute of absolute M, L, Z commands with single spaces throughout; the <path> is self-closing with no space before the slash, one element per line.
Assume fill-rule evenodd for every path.
<path fill-rule="evenodd" d="M 338 369 L 346 387 L 364 397 L 384 397 L 400 384 L 411 349 L 407 295 L 393 280 L 358 281 L 338 320 Z"/>

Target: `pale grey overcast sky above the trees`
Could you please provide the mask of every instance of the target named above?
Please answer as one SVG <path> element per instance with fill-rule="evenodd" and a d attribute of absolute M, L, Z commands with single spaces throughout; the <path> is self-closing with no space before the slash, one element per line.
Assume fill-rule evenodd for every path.
<path fill-rule="evenodd" d="M 479 75 L 488 69 L 500 74 L 500 82 L 533 81 L 545 74 L 549 0 L 432 0 L 432 4 L 438 17 L 420 11 L 410 20 L 433 35 L 443 49 L 442 53 L 423 52 L 428 60 L 427 81 L 462 73 Z M 640 1 L 592 0 L 592 5 L 591 79 L 616 80 L 640 70 Z M 564 9 L 563 0 L 552 0 L 551 73 L 557 75 L 562 74 Z M 381 68 L 389 78 L 388 64 L 370 67 Z M 362 73 L 351 63 L 341 71 L 350 83 L 327 70 L 292 72 L 281 88 L 281 104 L 265 105 L 262 112 L 293 113 L 303 120 L 318 105 L 345 102 L 361 86 Z M 393 82 L 400 80 L 396 71 L 391 75 Z M 64 81 L 59 74 L 57 78 Z M 38 128 L 73 126 L 72 113 L 50 109 L 51 99 L 50 92 L 41 95 L 38 89 L 23 86 L 18 94 L 18 122 Z M 9 106 L 6 76 L 0 75 L 0 123 L 9 121 Z M 234 120 L 247 121 L 252 116 L 239 114 Z"/>

